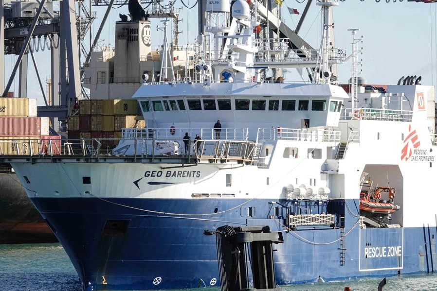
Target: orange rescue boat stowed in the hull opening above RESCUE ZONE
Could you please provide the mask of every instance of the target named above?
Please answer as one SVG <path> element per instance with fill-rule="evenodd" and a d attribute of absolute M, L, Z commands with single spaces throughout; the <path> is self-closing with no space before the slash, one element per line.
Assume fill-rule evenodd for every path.
<path fill-rule="evenodd" d="M 360 213 L 370 216 L 385 216 L 396 212 L 401 206 L 393 204 L 395 194 L 395 188 L 391 187 L 377 187 L 373 193 L 362 191 L 360 193 Z"/>

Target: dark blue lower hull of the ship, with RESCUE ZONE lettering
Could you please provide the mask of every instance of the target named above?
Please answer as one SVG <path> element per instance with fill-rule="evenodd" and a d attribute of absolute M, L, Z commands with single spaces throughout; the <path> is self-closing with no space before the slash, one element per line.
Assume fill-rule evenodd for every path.
<path fill-rule="evenodd" d="M 216 240 L 205 236 L 205 229 L 214 231 L 221 225 L 269 225 L 278 231 L 287 228 L 281 217 L 284 213 L 276 211 L 272 216 L 273 205 L 286 201 L 278 204 L 260 199 L 209 198 L 32 198 L 32 201 L 64 246 L 85 290 L 218 286 Z M 337 213 L 339 221 L 344 221 L 337 225 L 343 231 L 336 225 L 284 231 L 284 243 L 274 246 L 277 284 L 313 281 L 319 275 L 335 280 L 436 269 L 436 229 L 429 229 L 432 245 L 428 229 L 421 227 L 360 229 L 356 217 L 358 200 L 323 203 L 330 213 Z M 311 211 L 323 209 L 316 204 L 319 202 L 314 202 Z M 221 212 L 226 209 L 231 210 Z M 192 215 L 196 213 L 211 215 Z"/>

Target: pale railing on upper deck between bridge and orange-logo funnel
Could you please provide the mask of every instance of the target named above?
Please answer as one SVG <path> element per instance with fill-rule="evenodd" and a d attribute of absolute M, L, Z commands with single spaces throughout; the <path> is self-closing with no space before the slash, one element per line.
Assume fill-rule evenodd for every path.
<path fill-rule="evenodd" d="M 341 116 L 342 120 L 386 120 L 411 122 L 413 111 L 377 108 L 346 108 Z"/>

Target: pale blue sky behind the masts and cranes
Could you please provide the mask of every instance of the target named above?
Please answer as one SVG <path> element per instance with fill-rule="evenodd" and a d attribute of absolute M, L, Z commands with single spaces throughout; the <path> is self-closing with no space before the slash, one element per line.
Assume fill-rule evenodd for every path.
<path fill-rule="evenodd" d="M 192 6 L 195 0 L 184 0 L 188 6 Z M 284 21 L 294 29 L 302 15 L 306 1 L 299 3 L 295 0 L 285 0 L 281 12 Z M 289 15 L 287 6 L 297 8 L 301 15 Z M 182 7 L 177 1 L 175 7 Z M 106 7 L 92 7 L 97 11 L 97 19 L 94 23 L 93 32 L 96 32 L 100 19 L 103 18 Z M 407 2 L 399 0 L 395 3 L 386 3 L 381 0 L 346 0 L 339 1 L 334 7 L 333 22 L 335 29 L 335 47 L 346 48 L 350 52 L 351 33 L 347 29 L 359 28 L 357 36 L 363 35 L 364 42 L 359 44 L 364 48 L 363 76 L 371 84 L 396 84 L 401 76 L 421 75 L 423 85 L 436 85 L 437 83 L 437 54 L 436 54 L 436 10 L 435 3 L 425 4 L 422 2 Z M 114 43 L 114 22 L 119 20 L 118 14 L 127 14 L 127 5 L 119 9 L 113 9 L 101 38 L 106 44 Z M 180 44 L 192 43 L 197 36 L 197 6 L 188 11 L 183 8 L 181 13 L 183 21 L 180 29 Z M 187 21 L 189 19 L 189 21 Z M 152 23 L 156 27 L 158 23 Z M 320 8 L 315 1 L 300 30 L 300 35 L 314 48 L 319 46 L 321 35 Z M 186 32 L 195 32 L 187 35 Z M 160 45 L 162 33 L 153 30 L 153 45 Z M 87 36 L 88 38 L 88 36 Z M 50 77 L 50 68 L 46 65 L 50 55 L 46 52 L 38 52 L 36 55 L 38 69 L 41 78 Z M 5 84 L 8 81 L 16 56 L 5 57 Z M 342 83 L 347 83 L 350 78 L 350 62 L 338 67 L 338 78 Z M 36 81 L 36 75 L 29 57 L 29 86 L 28 97 L 38 98 L 38 104 L 42 104 L 42 95 Z M 291 79 L 290 79 L 291 81 Z M 10 89 L 18 95 L 18 80 Z"/>

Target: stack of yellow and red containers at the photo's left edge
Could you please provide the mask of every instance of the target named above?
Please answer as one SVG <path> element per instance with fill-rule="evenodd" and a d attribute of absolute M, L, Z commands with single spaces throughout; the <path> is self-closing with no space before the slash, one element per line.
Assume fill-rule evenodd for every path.
<path fill-rule="evenodd" d="M 50 136 L 50 119 L 36 111 L 36 99 L 0 98 L 0 154 L 60 154 L 61 137 Z"/>

